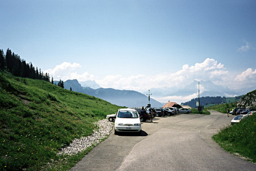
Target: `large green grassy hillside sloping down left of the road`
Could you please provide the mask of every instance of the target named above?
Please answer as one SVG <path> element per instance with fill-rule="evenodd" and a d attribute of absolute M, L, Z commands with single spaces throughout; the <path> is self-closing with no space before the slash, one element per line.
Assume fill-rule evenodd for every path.
<path fill-rule="evenodd" d="M 62 161 L 64 157 L 56 155 L 60 148 L 92 134 L 97 120 L 119 108 L 6 72 L 0 72 L 0 92 L 0 170 L 40 170 L 50 161 Z"/>

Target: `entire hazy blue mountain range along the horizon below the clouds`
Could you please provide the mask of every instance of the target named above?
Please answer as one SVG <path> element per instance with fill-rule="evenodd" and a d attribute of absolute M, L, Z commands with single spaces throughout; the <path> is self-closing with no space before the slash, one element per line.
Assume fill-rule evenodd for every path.
<path fill-rule="evenodd" d="M 54 81 L 55 84 L 58 81 Z M 113 88 L 101 88 L 95 81 L 81 82 L 77 80 L 67 80 L 64 82 L 64 87 L 72 91 L 86 93 L 108 101 L 118 106 L 126 107 L 141 107 L 148 104 L 148 92 L 137 92 L 133 90 L 117 90 Z M 227 87 L 216 85 L 211 81 L 200 81 L 200 97 L 202 96 L 226 96 L 234 97 L 246 94 L 255 89 L 255 87 L 239 90 L 231 90 Z M 188 96 L 198 93 L 198 81 L 194 81 L 185 87 L 164 87 L 152 88 L 150 91 L 154 97 L 167 97 L 167 96 Z M 150 104 L 153 107 L 162 107 L 165 103 L 160 103 L 151 98 Z"/>

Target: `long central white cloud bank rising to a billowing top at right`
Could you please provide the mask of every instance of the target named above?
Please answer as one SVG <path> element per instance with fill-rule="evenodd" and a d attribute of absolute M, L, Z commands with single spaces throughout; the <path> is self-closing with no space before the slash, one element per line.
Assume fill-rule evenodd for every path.
<path fill-rule="evenodd" d="M 194 66 L 185 64 L 182 69 L 175 73 L 162 73 L 155 76 L 137 75 L 122 77 L 121 75 L 106 76 L 97 80 L 101 87 L 145 91 L 150 88 L 181 87 L 190 84 L 195 79 L 211 81 L 223 81 L 222 76 L 228 74 L 224 65 L 214 59 L 205 59 L 202 63 Z"/>

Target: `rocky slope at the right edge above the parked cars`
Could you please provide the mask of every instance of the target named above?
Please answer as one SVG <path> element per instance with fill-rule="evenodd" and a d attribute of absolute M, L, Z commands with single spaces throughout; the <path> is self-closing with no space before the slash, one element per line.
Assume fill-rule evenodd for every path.
<path fill-rule="evenodd" d="M 243 96 L 237 106 L 246 109 L 256 109 L 256 90 L 248 92 Z"/>

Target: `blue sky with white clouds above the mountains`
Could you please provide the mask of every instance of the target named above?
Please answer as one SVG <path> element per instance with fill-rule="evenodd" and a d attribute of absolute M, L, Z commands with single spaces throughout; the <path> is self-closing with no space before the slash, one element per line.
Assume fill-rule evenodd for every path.
<path fill-rule="evenodd" d="M 0 48 L 56 81 L 139 92 L 256 85 L 256 1 L 1 0 L 0 9 Z"/>

